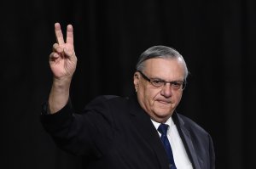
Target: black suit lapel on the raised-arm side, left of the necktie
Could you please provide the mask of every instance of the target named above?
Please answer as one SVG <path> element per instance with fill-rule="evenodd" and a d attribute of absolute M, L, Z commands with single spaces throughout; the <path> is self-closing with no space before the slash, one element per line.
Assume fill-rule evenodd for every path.
<path fill-rule="evenodd" d="M 143 136 L 145 141 L 154 149 L 155 155 L 160 164 L 161 169 L 168 169 L 169 161 L 166 156 L 166 150 L 164 149 L 158 132 L 150 120 L 149 115 L 137 104 L 136 101 L 132 100 L 130 104 L 131 121 L 137 127 L 140 135 Z"/>

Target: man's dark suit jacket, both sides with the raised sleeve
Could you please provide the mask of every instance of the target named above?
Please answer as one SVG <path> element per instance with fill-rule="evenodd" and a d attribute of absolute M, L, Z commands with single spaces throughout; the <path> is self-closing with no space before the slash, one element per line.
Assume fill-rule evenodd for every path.
<path fill-rule="evenodd" d="M 83 113 L 75 114 L 67 104 L 60 112 L 43 112 L 41 117 L 44 128 L 61 149 L 84 155 L 86 168 L 168 168 L 159 134 L 137 99 L 102 96 L 88 104 Z M 176 112 L 172 119 L 194 168 L 215 168 L 210 135 Z"/>

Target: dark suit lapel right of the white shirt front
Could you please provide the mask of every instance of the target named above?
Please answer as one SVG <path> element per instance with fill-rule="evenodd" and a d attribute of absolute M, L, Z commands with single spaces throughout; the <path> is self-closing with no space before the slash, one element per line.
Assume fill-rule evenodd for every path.
<path fill-rule="evenodd" d="M 172 117 L 177 126 L 177 131 L 179 132 L 183 140 L 184 147 L 187 150 L 191 163 L 193 164 L 195 169 L 201 169 L 201 166 L 198 163 L 198 158 L 195 153 L 195 147 L 192 142 L 189 130 L 185 127 L 183 119 L 179 115 L 177 115 L 177 113 L 174 113 Z"/>

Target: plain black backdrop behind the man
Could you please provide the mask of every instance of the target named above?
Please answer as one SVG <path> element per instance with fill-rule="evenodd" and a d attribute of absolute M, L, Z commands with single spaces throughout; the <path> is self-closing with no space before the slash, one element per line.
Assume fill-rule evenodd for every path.
<path fill-rule="evenodd" d="M 54 23 L 74 26 L 78 111 L 100 94 L 134 92 L 137 57 L 153 45 L 176 48 L 189 84 L 178 112 L 211 133 L 219 169 L 255 162 L 255 0 L 1 1 L 1 168 L 79 169 L 40 122 L 51 85 Z"/>

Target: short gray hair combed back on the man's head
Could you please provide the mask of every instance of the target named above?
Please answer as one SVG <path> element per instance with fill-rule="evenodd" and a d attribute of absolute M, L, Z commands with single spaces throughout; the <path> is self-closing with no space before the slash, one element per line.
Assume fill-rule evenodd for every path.
<path fill-rule="evenodd" d="M 184 64 L 184 70 L 185 70 L 185 76 L 184 80 L 187 79 L 187 76 L 189 75 L 189 70 L 187 68 L 186 62 L 183 59 L 183 56 L 177 52 L 174 48 L 166 47 L 166 46 L 154 46 L 151 48 L 148 48 L 143 52 L 143 54 L 140 55 L 136 70 L 143 71 L 144 69 L 144 61 L 147 59 L 153 59 L 153 58 L 163 58 L 163 59 L 177 59 L 181 58 L 183 60 Z"/>

